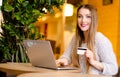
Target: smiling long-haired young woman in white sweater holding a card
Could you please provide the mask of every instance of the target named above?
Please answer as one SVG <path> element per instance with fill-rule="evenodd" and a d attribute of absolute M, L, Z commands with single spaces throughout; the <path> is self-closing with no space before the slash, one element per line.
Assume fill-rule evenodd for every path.
<path fill-rule="evenodd" d="M 77 10 L 76 35 L 68 49 L 56 60 L 66 66 L 73 64 L 80 67 L 81 73 L 115 75 L 118 71 L 116 56 L 112 44 L 107 37 L 97 30 L 96 9 L 89 5 L 81 5 Z M 77 54 L 78 47 L 86 47 L 84 55 Z"/>

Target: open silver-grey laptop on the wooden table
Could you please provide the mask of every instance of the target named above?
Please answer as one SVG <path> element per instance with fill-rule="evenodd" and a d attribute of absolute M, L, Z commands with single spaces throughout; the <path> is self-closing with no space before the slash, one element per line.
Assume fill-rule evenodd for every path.
<path fill-rule="evenodd" d="M 44 67 L 56 70 L 75 70 L 76 67 L 58 67 L 50 41 L 47 40 L 24 40 L 23 44 L 27 49 L 27 56 L 33 66 Z"/>

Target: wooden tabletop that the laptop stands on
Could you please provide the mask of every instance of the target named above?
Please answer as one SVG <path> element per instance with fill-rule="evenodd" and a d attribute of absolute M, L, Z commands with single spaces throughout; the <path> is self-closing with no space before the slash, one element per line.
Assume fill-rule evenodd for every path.
<path fill-rule="evenodd" d="M 34 67 L 30 63 L 1 63 L 0 71 L 22 74 L 32 72 L 57 72 L 58 70 Z M 80 72 L 79 70 L 59 70 L 59 72 Z"/>

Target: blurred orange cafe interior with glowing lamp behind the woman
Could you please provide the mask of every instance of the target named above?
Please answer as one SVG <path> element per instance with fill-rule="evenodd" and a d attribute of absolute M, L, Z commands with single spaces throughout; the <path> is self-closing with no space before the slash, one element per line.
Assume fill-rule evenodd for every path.
<path fill-rule="evenodd" d="M 46 14 L 35 23 L 37 28 L 51 41 L 55 57 L 68 47 L 75 32 L 76 9 L 81 3 L 89 3 L 98 11 L 98 31 L 112 42 L 120 65 L 120 2 L 119 0 L 67 0 L 62 11 L 55 9 L 55 15 Z"/>

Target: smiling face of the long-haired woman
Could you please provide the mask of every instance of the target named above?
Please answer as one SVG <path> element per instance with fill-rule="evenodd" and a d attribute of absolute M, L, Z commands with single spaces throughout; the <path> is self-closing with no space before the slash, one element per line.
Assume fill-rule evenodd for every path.
<path fill-rule="evenodd" d="M 88 31 L 91 25 L 91 12 L 86 8 L 81 8 L 78 11 L 77 24 L 79 28 L 85 32 Z"/>

